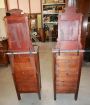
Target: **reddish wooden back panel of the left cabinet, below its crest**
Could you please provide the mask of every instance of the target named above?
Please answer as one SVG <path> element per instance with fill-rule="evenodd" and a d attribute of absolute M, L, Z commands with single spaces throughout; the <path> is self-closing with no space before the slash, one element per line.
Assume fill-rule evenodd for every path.
<path fill-rule="evenodd" d="M 11 15 L 6 18 L 9 50 L 33 50 L 30 40 L 28 17 L 26 15 Z"/>

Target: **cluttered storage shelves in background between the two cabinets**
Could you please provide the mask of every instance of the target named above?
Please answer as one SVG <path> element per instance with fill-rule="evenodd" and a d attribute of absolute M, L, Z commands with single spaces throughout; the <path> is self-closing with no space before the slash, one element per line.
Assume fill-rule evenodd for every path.
<path fill-rule="evenodd" d="M 58 15 L 64 12 L 65 0 L 43 0 L 42 27 L 46 40 L 56 41 L 58 36 Z"/>

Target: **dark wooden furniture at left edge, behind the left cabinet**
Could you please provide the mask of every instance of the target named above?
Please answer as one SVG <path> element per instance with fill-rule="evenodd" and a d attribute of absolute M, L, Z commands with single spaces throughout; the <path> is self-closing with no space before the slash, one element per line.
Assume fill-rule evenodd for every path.
<path fill-rule="evenodd" d="M 7 39 L 0 41 L 0 66 L 8 65 L 8 56 L 4 53 L 8 50 Z"/>

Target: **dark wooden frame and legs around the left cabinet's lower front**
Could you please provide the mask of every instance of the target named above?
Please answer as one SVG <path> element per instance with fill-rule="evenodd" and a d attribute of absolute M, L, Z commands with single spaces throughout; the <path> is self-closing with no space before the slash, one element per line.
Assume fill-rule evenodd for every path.
<path fill-rule="evenodd" d="M 12 76 L 13 76 L 13 81 L 14 81 L 14 84 L 15 84 L 17 97 L 18 97 L 18 100 L 21 100 L 20 93 L 28 93 L 30 91 L 27 91 L 27 92 L 18 91 L 18 86 L 17 86 L 17 83 L 16 83 L 16 78 L 15 78 L 14 70 L 13 70 L 14 53 L 15 52 L 7 53 L 7 54 L 9 55 L 9 59 L 10 59 Z M 18 52 L 16 52 L 16 53 L 17 54 L 15 54 L 15 55 L 18 55 Z M 19 54 L 20 54 L 20 52 L 19 52 Z M 21 54 L 23 54 L 23 52 L 21 52 Z M 30 55 L 31 56 L 34 55 L 34 57 L 35 57 L 35 66 L 36 66 L 36 69 L 37 69 L 36 77 L 37 77 L 37 86 L 38 86 L 38 97 L 41 100 L 41 74 L 40 74 L 40 62 L 39 62 L 39 48 L 37 48 L 35 52 L 30 52 Z M 30 93 L 33 93 L 33 92 L 30 92 Z M 34 92 L 34 93 L 37 93 L 37 92 Z"/>

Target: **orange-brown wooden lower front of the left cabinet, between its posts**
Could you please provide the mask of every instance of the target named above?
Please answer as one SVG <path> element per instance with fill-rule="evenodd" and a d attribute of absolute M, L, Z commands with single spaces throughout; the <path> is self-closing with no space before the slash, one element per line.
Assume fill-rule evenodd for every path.
<path fill-rule="evenodd" d="M 19 92 L 37 92 L 37 77 L 34 56 L 15 55 L 13 58 L 13 75 Z"/>

